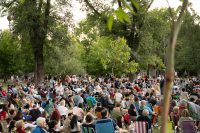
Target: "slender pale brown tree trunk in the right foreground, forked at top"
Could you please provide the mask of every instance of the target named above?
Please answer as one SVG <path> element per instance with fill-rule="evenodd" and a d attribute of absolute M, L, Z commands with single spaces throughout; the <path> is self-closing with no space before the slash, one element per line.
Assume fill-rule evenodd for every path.
<path fill-rule="evenodd" d="M 174 21 L 174 14 L 169 7 L 173 26 L 171 31 L 171 36 L 169 40 L 169 45 L 167 47 L 166 52 L 166 73 L 165 73 L 165 83 L 164 83 L 164 100 L 162 104 L 162 123 L 161 123 L 161 133 L 166 133 L 166 127 L 167 127 L 167 116 L 168 116 L 168 110 L 169 110 L 169 101 L 170 101 L 170 91 L 173 85 L 173 79 L 174 79 L 174 51 L 175 51 L 175 44 L 178 37 L 178 33 L 181 27 L 181 23 L 183 20 L 185 9 L 187 8 L 188 0 L 183 1 L 182 9 L 179 14 L 177 22 Z"/>

